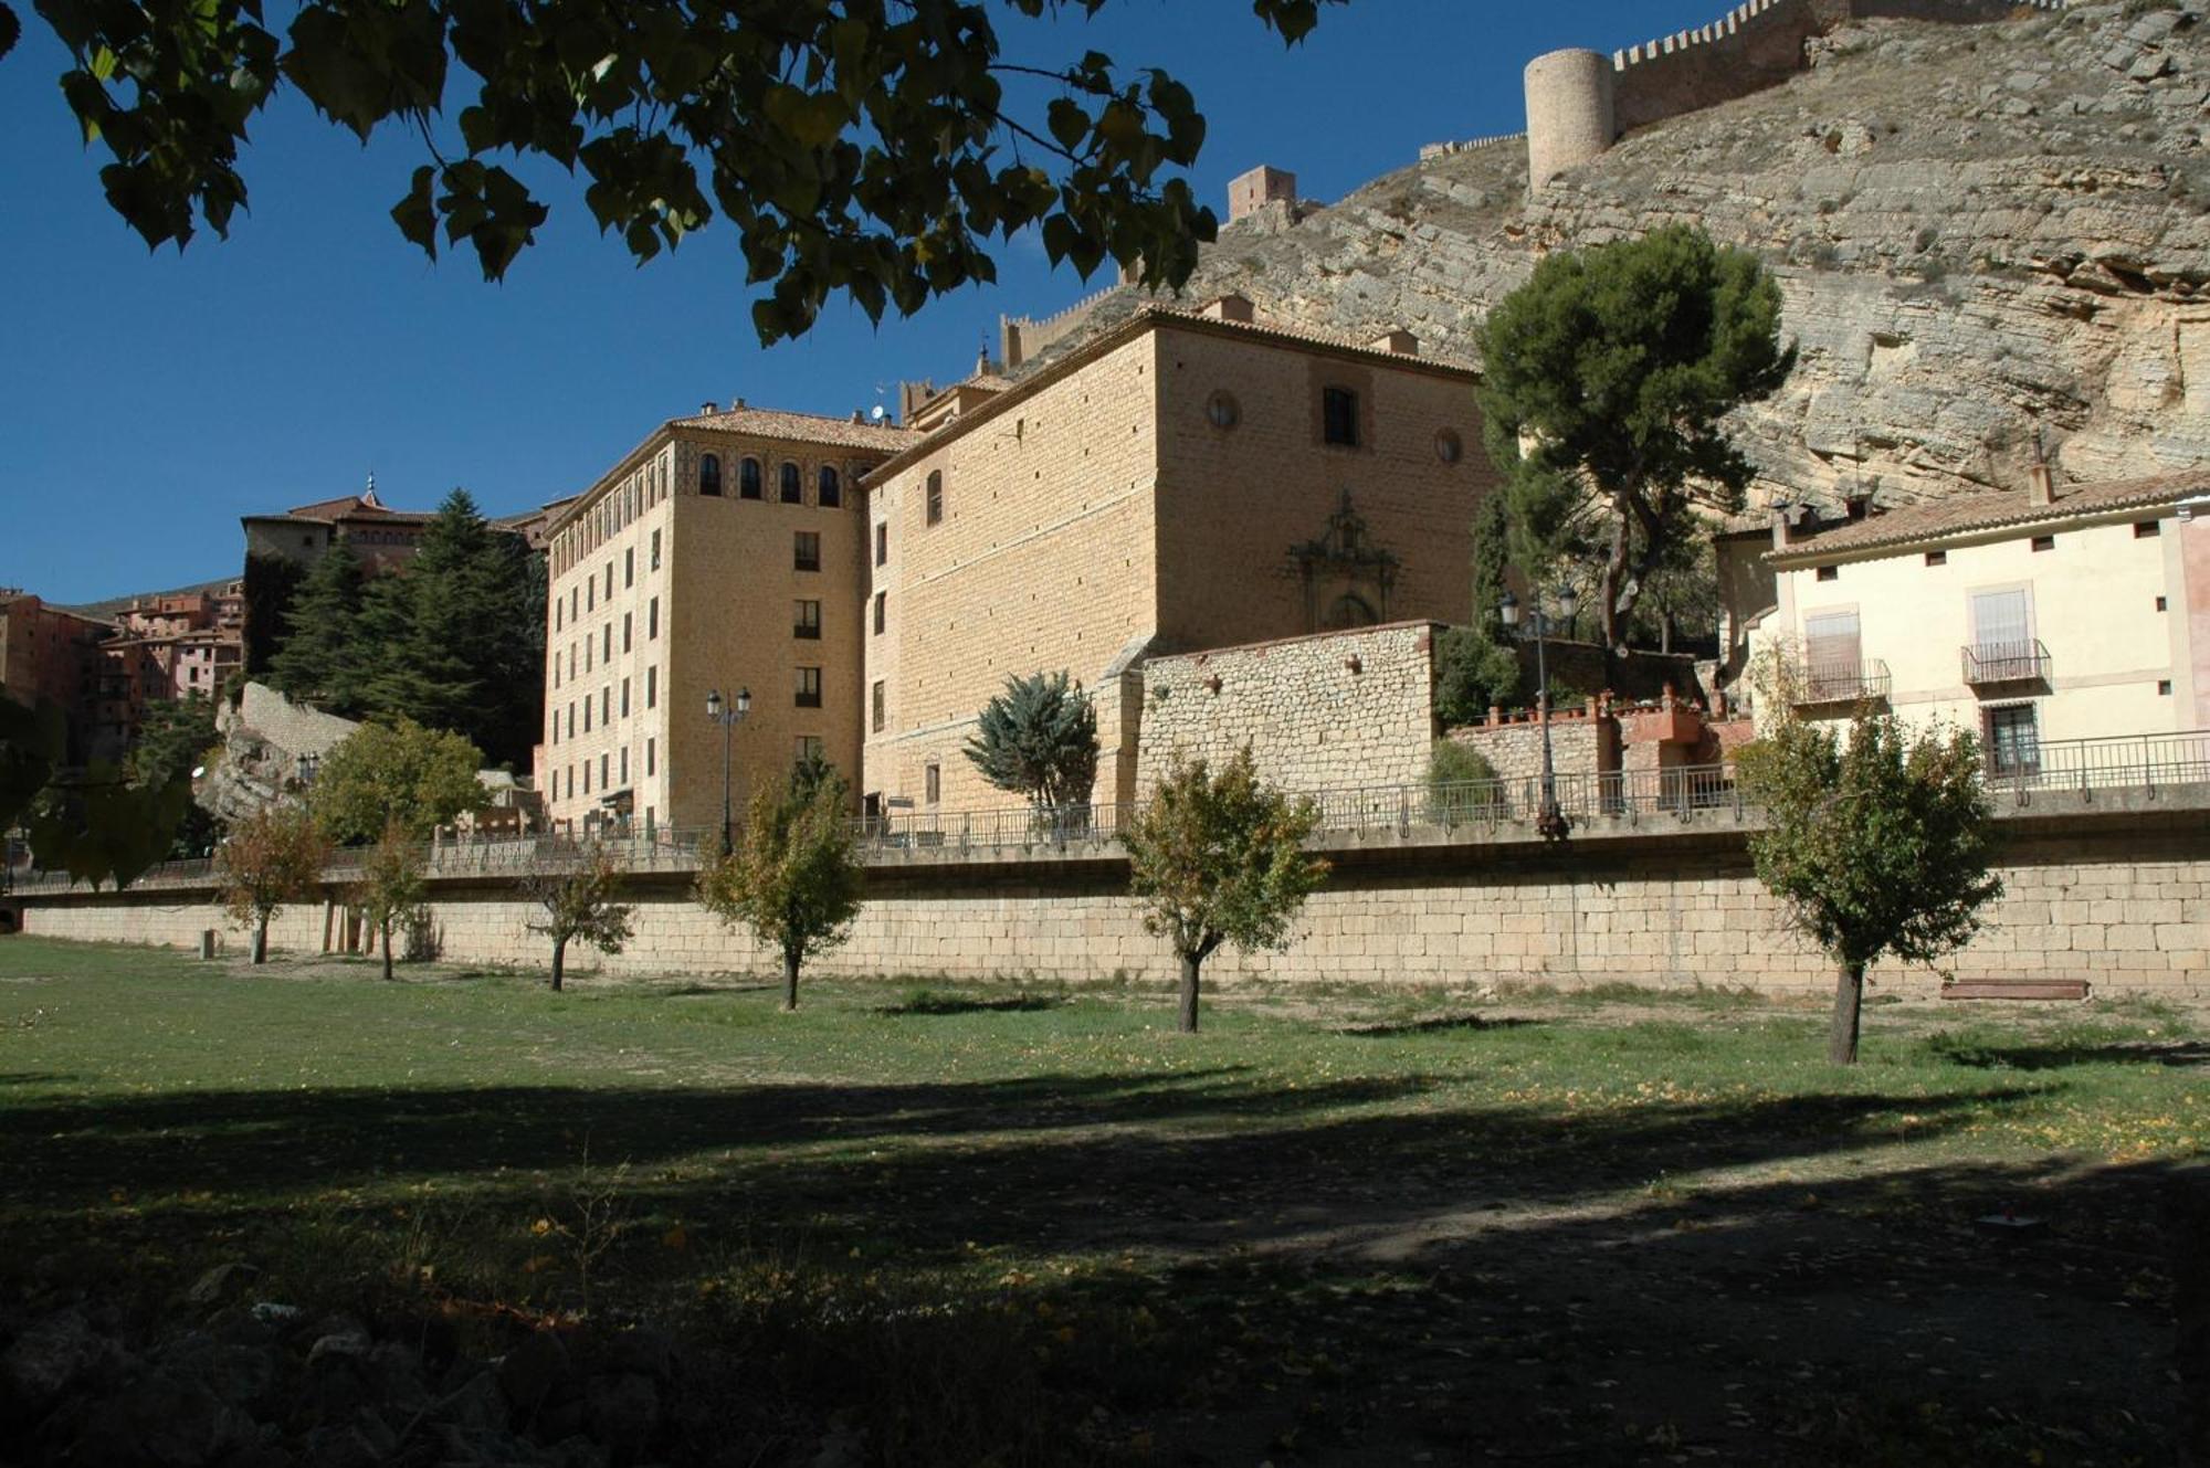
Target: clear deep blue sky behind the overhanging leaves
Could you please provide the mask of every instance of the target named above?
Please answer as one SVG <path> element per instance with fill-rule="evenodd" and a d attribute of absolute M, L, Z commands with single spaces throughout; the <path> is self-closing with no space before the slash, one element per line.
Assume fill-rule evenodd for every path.
<path fill-rule="evenodd" d="M 1702 24 L 1719 0 L 1353 0 L 1295 51 L 1240 0 L 1114 0 L 1096 20 L 1003 18 L 1008 60 L 1081 49 L 1162 64 L 1209 119 L 1193 184 L 1224 212 L 1255 164 L 1337 199 L 1423 141 L 1520 126 L 1520 66 L 1554 46 L 1618 49 Z M 234 575 L 239 515 L 360 489 L 429 506 L 455 484 L 511 513 L 590 484 L 659 420 L 732 396 L 849 413 L 899 378 L 964 376 L 997 318 L 1103 285 L 1014 243 L 994 287 L 873 327 L 833 303 L 760 349 L 734 234 L 712 228 L 636 268 L 561 175 L 539 243 L 486 285 L 473 256 L 429 263 L 389 206 L 424 161 L 367 148 L 296 97 L 243 155 L 252 212 L 148 254 L 106 208 L 62 104 L 66 57 L 29 7 L 0 60 L 0 586 L 91 601 Z"/>

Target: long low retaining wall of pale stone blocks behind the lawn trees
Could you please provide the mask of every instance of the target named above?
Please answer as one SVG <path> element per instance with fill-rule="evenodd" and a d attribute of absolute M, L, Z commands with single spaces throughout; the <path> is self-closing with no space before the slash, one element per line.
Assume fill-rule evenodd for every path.
<path fill-rule="evenodd" d="M 1989 929 L 1947 968 L 1960 979 L 2091 979 L 2095 993 L 2210 999 L 2210 836 L 2009 836 L 2007 893 Z M 506 887 L 440 887 L 442 955 L 469 964 L 544 968 L 544 940 Z M 1478 986 L 1494 982 L 1744 986 L 1819 993 L 1830 964 L 1781 924 L 1748 871 L 1739 838 L 1666 838 L 1642 851 L 1593 842 L 1565 849 L 1452 849 L 1414 867 L 1341 864 L 1299 920 L 1288 953 L 1220 951 L 1213 984 L 1357 982 Z M 38 900 L 29 933 L 192 946 L 223 929 L 210 904 L 159 893 Z M 223 929 L 230 953 L 243 935 Z M 320 951 L 336 933 L 323 906 L 285 911 L 278 951 Z M 603 977 L 771 973 L 776 960 L 703 913 L 681 880 L 643 889 L 636 935 L 619 957 L 583 951 L 575 971 Z M 842 975 L 950 975 L 992 979 L 1167 982 L 1171 957 L 1143 931 L 1125 869 L 1096 860 L 1074 871 L 1019 873 L 941 867 L 877 880 L 853 942 L 813 964 Z M 1874 984 L 1932 993 L 1927 968 L 1885 964 Z"/>

